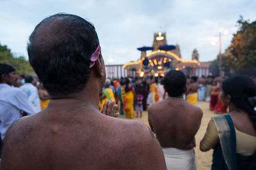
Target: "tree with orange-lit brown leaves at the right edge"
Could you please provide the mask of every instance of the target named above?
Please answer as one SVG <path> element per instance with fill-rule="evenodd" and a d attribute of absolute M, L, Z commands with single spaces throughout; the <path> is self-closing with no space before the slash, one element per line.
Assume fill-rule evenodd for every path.
<path fill-rule="evenodd" d="M 241 17 L 237 23 L 239 29 L 223 57 L 232 73 L 252 75 L 256 73 L 256 21 Z"/>

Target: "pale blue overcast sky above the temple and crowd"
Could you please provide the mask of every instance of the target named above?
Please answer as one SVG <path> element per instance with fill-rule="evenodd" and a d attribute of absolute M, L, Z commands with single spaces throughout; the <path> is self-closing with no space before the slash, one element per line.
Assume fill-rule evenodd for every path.
<path fill-rule="evenodd" d="M 222 52 L 237 31 L 243 15 L 256 20 L 254 0 L 0 0 L 0 43 L 15 55 L 28 59 L 28 37 L 42 19 L 55 13 L 72 13 L 89 20 L 98 33 L 106 64 L 124 64 L 140 58 L 136 48 L 152 46 L 154 32 L 166 32 L 168 45 L 178 44 L 183 59 L 191 59 L 196 48 L 200 61 L 218 55 L 221 36 Z M 149 53 L 150 51 L 148 51 Z M 114 62 L 108 62 L 113 57 Z"/>

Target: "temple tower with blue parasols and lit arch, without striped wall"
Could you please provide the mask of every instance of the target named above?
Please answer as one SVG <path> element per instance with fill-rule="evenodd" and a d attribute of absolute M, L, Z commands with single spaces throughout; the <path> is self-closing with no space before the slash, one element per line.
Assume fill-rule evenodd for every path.
<path fill-rule="evenodd" d="M 143 46 L 137 48 L 141 51 L 140 60 L 124 64 L 127 72 L 134 71 L 140 76 L 164 76 L 170 70 L 180 70 L 187 75 L 193 75 L 196 67 L 200 66 L 198 60 L 184 60 L 180 55 L 179 45 L 168 45 L 166 33 L 158 32 L 154 34 L 153 46 Z M 147 51 L 151 51 L 147 54 Z"/>

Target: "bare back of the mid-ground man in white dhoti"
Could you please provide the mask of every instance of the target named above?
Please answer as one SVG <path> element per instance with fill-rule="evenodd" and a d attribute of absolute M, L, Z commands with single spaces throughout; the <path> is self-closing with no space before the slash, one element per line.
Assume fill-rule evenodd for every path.
<path fill-rule="evenodd" d="M 180 98 L 167 98 L 148 107 L 148 122 L 160 145 L 189 150 L 195 147 L 202 110 Z"/>

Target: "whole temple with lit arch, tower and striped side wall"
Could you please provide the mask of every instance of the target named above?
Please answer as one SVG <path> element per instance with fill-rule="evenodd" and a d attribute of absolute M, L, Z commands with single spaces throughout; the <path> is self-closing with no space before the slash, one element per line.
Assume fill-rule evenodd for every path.
<path fill-rule="evenodd" d="M 199 62 L 198 57 L 184 60 L 180 55 L 179 45 L 168 45 L 165 32 L 154 33 L 152 46 L 137 48 L 141 51 L 140 59 L 124 65 L 107 65 L 108 78 L 126 76 L 164 76 L 170 70 L 180 70 L 187 76 L 208 76 L 211 62 Z M 148 52 L 149 51 L 149 52 Z"/>

